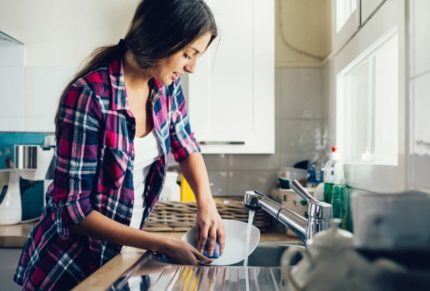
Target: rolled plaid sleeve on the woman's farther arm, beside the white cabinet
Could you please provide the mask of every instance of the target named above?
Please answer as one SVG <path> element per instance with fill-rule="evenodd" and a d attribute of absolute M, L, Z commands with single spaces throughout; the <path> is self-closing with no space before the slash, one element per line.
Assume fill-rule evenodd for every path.
<path fill-rule="evenodd" d="M 200 147 L 191 131 L 180 80 L 175 80 L 172 86 L 172 112 L 169 130 L 172 154 L 175 160 L 179 162 L 193 152 L 200 152 Z"/>

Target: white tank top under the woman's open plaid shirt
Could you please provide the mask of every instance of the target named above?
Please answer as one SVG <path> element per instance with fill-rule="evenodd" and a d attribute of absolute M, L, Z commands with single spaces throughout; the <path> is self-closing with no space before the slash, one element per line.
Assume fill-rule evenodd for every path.
<path fill-rule="evenodd" d="M 140 229 L 143 213 L 145 211 L 145 179 L 154 161 L 161 156 L 161 146 L 152 130 L 144 137 L 134 138 L 134 204 L 130 227 Z"/>

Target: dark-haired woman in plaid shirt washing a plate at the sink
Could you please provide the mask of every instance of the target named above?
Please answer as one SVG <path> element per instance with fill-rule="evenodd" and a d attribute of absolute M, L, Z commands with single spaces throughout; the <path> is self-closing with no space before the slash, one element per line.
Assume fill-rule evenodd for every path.
<path fill-rule="evenodd" d="M 217 36 L 203 0 L 144 0 L 124 40 L 97 50 L 63 92 L 56 115 L 57 164 L 47 206 L 27 240 L 15 281 L 69 289 L 122 246 L 209 263 L 224 246 L 221 218 L 190 129 L 180 76 L 192 73 Z M 198 250 L 147 233 L 171 149 L 197 199 Z"/>

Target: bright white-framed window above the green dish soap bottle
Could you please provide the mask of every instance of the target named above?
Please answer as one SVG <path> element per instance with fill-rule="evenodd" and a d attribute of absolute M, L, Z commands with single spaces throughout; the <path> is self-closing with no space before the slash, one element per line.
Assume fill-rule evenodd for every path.
<path fill-rule="evenodd" d="M 383 35 L 337 74 L 337 140 L 345 163 L 398 165 L 399 34 Z"/>

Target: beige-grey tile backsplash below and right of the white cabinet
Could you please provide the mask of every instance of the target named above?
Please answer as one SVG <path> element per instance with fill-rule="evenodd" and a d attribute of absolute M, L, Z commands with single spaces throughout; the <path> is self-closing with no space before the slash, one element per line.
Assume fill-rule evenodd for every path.
<path fill-rule="evenodd" d="M 320 67 L 276 69 L 275 154 L 205 155 L 213 195 L 270 193 L 282 167 L 313 157 L 315 130 L 323 124 L 322 78 Z"/>

